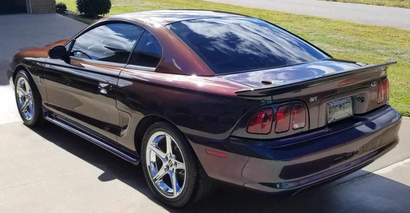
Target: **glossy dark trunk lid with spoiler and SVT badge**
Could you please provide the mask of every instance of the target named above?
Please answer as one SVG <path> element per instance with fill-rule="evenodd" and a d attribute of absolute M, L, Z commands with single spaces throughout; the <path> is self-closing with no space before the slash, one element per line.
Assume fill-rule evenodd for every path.
<path fill-rule="evenodd" d="M 251 87 L 236 91 L 238 96 L 270 95 L 274 103 L 284 104 L 302 101 L 308 110 L 309 129 L 314 129 L 329 123 L 328 103 L 351 99 L 353 119 L 385 105 L 387 100 L 376 101 L 378 84 L 387 76 L 387 67 L 395 63 L 366 65 L 332 58 L 220 77 Z"/>

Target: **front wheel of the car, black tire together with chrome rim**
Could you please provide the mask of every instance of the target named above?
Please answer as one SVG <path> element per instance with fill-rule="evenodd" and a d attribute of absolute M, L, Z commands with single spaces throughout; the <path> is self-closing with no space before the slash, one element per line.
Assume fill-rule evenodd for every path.
<path fill-rule="evenodd" d="M 14 90 L 18 112 L 25 125 L 39 126 L 43 119 L 41 96 L 27 70 L 17 72 Z"/>

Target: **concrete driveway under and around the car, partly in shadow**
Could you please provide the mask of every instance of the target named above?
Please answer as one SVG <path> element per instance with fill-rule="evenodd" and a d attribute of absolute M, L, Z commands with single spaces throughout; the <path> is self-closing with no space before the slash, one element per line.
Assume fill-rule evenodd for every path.
<path fill-rule="evenodd" d="M 57 14 L 0 16 L 0 54 L 73 36 L 85 25 Z M 8 52 L 8 54 L 6 54 Z M 5 59 L 6 58 L 6 59 Z M 1 107 L 15 110 L 13 90 L 0 65 Z M 408 212 L 410 119 L 401 142 L 373 164 L 290 198 L 250 194 L 221 186 L 208 200 L 185 209 L 160 204 L 134 166 L 51 123 L 28 128 L 0 114 L 0 212 Z M 16 113 L 15 113 L 16 114 Z M 17 122 L 16 122 L 17 121 Z M 268 171 L 267 171 L 268 172 Z"/>

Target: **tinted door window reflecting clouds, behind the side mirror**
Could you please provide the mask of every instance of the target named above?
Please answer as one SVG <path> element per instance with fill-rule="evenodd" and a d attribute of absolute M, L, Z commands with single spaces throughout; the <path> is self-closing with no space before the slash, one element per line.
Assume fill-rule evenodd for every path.
<path fill-rule="evenodd" d="M 70 56 L 127 63 L 141 31 L 141 27 L 122 23 L 96 27 L 75 39 Z"/>

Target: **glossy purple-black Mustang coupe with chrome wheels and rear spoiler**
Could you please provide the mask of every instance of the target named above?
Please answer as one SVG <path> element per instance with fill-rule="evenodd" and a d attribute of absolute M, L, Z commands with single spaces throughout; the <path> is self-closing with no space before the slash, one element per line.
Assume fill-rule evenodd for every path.
<path fill-rule="evenodd" d="M 387 69 L 336 59 L 260 18 L 210 10 L 108 16 L 12 58 L 27 126 L 50 121 L 133 164 L 166 205 L 218 184 L 289 196 L 399 143 Z"/>

